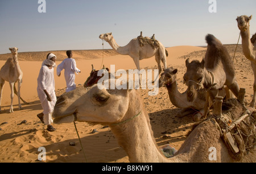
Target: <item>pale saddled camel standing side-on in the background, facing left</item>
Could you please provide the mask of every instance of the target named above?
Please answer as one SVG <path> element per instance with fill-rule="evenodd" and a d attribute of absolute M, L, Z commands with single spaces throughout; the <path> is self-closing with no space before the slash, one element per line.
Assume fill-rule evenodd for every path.
<path fill-rule="evenodd" d="M 100 39 L 108 42 L 110 46 L 114 49 L 114 51 L 116 51 L 120 55 L 129 55 L 131 58 L 133 58 L 133 61 L 138 70 L 140 70 L 139 61 L 142 59 L 148 59 L 152 56 L 155 56 L 156 63 L 158 63 L 159 72 L 162 71 L 162 68 L 160 65 L 161 61 L 164 65 L 164 69 L 167 68 L 166 57 L 168 56 L 168 52 L 166 48 L 163 46 L 163 44 L 160 42 L 158 42 L 159 47 L 152 48 L 150 44 L 145 44 L 141 46 L 141 44 L 139 43 L 139 39 L 135 38 L 135 39 L 132 39 L 130 43 L 127 44 L 126 46 L 119 47 L 117 42 L 115 42 L 112 32 L 101 34 Z"/>

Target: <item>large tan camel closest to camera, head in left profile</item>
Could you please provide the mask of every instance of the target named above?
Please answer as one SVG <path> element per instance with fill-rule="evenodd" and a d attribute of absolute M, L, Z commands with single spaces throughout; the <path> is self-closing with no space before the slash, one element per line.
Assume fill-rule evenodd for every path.
<path fill-rule="evenodd" d="M 54 122 L 74 121 L 108 125 L 131 163 L 155 162 L 233 162 L 220 131 L 211 119 L 197 126 L 173 158 L 159 150 L 137 90 L 100 90 L 97 85 L 77 88 L 59 97 L 53 111 Z M 216 160 L 209 160 L 209 149 L 216 148 Z M 255 151 L 242 161 L 256 161 Z"/>

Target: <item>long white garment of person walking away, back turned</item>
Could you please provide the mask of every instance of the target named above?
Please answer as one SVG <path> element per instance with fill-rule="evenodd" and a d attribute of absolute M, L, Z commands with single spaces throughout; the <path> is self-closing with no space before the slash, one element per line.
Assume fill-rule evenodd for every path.
<path fill-rule="evenodd" d="M 75 73 L 78 74 L 80 72 L 80 69 L 78 69 L 76 67 L 75 59 L 72 59 L 72 58 L 64 59 L 61 62 L 61 64 L 59 64 L 57 66 L 57 75 L 58 76 L 59 76 L 60 72 L 63 71 L 63 69 L 65 69 L 64 76 L 65 76 L 65 81 L 66 81 L 66 85 L 67 85 L 66 92 L 76 89 Z"/>

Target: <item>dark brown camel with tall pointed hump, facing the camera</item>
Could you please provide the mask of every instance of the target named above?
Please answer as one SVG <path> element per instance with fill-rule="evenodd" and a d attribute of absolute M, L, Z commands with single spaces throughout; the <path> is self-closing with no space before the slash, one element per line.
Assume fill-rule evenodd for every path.
<path fill-rule="evenodd" d="M 185 61 L 187 72 L 184 74 L 184 82 L 188 86 L 187 99 L 195 101 L 201 88 L 207 90 L 207 97 L 204 106 L 204 117 L 209 110 L 209 98 L 213 101 L 217 96 L 217 90 L 228 86 L 234 96 L 238 96 L 239 87 L 236 80 L 236 72 L 233 61 L 228 50 L 220 40 L 208 34 L 205 37 L 208 43 L 207 53 L 201 61 Z"/>

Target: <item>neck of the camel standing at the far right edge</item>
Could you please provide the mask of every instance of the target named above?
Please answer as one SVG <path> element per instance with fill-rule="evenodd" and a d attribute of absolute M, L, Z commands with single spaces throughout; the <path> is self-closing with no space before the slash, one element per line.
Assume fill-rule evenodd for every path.
<path fill-rule="evenodd" d="M 253 44 L 251 44 L 250 40 L 250 27 L 246 31 L 241 31 L 242 37 L 242 48 L 243 54 L 249 60 L 255 59 L 255 53 L 253 52 Z"/>

